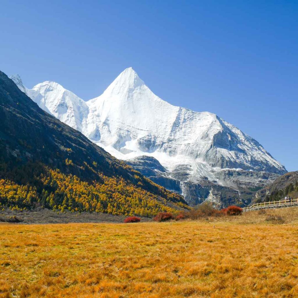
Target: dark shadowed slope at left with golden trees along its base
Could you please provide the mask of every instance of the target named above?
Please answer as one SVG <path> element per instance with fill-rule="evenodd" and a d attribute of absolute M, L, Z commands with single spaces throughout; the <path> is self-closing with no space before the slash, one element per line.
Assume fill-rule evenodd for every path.
<path fill-rule="evenodd" d="M 0 72 L 0 208 L 152 216 L 184 199 L 38 107 Z"/>

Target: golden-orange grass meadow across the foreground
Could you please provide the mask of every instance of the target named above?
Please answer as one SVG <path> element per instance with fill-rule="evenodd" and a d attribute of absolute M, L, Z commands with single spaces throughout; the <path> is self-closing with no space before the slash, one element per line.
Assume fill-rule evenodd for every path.
<path fill-rule="evenodd" d="M 297 219 L 0 224 L 0 297 L 298 297 Z"/>

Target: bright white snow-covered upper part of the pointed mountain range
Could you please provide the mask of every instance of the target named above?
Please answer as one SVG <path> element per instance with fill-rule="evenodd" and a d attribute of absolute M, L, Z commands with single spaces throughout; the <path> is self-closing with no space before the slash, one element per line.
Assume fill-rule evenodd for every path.
<path fill-rule="evenodd" d="M 229 183 L 219 177 L 221 171 L 286 172 L 256 140 L 215 114 L 156 96 L 131 67 L 88 101 L 55 82 L 27 89 L 18 75 L 11 79 L 45 111 L 118 159 L 150 156 L 169 173 L 184 166 L 187 180 L 207 178 L 223 186 Z"/>

